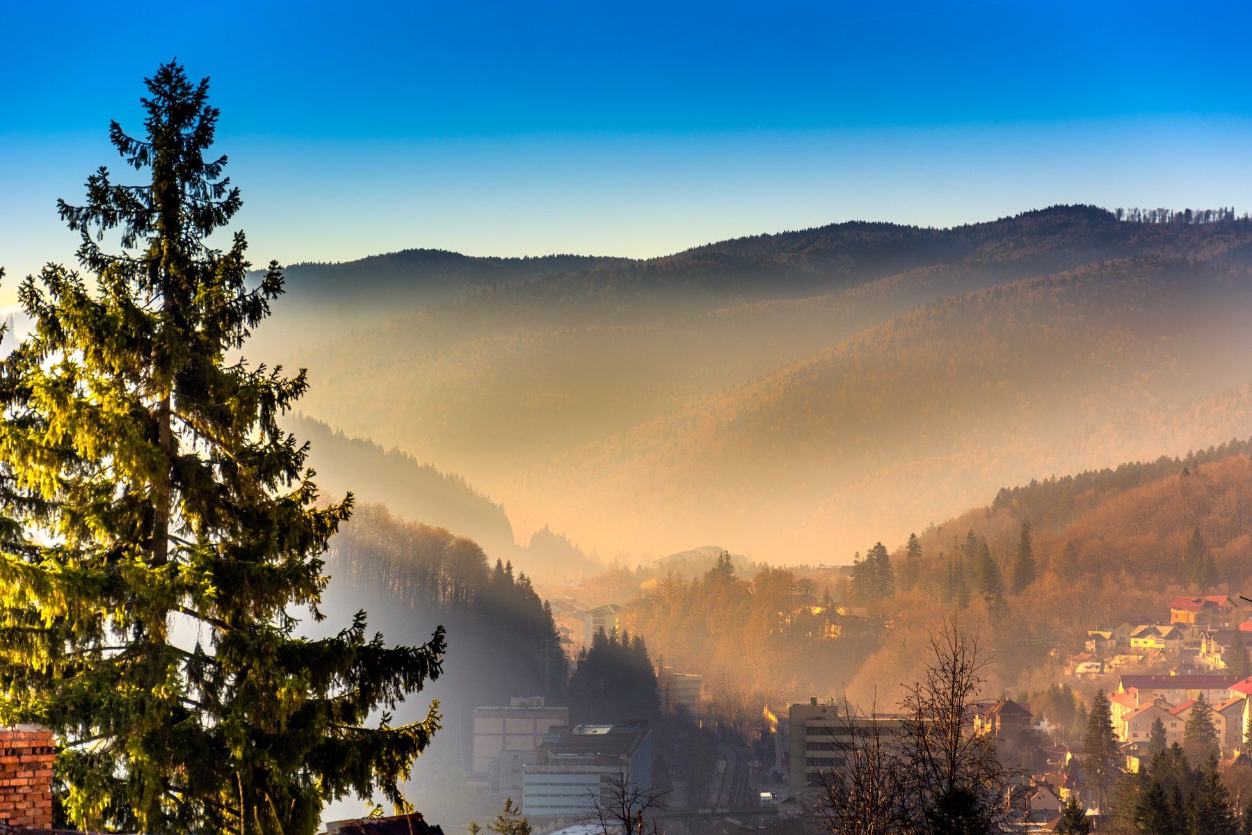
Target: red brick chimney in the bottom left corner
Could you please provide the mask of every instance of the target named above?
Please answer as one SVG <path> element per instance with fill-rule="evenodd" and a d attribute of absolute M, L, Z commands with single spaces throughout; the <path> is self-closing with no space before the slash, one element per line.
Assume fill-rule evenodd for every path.
<path fill-rule="evenodd" d="M 53 732 L 39 725 L 0 727 L 0 821 L 53 827 Z"/>

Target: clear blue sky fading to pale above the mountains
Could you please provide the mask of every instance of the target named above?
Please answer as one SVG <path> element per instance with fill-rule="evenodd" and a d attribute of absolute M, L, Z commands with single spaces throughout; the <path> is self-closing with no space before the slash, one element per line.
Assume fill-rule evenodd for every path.
<path fill-rule="evenodd" d="M 654 255 L 1052 203 L 1252 210 L 1246 4 L 9 3 L 0 264 L 178 56 L 255 260 Z"/>

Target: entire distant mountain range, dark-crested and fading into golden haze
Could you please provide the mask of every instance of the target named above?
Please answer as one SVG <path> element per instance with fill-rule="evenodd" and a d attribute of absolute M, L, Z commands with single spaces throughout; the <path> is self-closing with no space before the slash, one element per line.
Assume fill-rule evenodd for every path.
<path fill-rule="evenodd" d="M 1252 432 L 1248 269 L 1249 222 L 1093 207 L 649 260 L 417 250 L 292 268 L 259 344 L 309 368 L 309 413 L 531 530 L 830 562 L 1038 472 Z"/>

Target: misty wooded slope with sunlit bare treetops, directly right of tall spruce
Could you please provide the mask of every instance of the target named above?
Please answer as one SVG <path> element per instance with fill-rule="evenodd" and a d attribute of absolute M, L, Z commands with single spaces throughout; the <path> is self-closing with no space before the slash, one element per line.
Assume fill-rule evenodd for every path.
<path fill-rule="evenodd" d="M 463 809 L 471 720 L 477 705 L 507 705 L 511 696 L 563 694 L 567 665 L 552 615 L 525 572 L 488 560 L 478 545 L 446 528 L 406 522 L 377 505 L 361 505 L 331 541 L 324 623 L 366 610 L 371 630 L 419 645 L 447 630 L 443 675 L 423 697 L 439 700 L 442 730 L 414 766 L 409 799 L 444 814 Z M 307 631 L 316 635 L 318 623 Z M 394 636 L 394 637 L 393 637 Z M 423 704 L 401 705 L 398 722 Z M 452 804 L 452 805 L 449 805 Z"/>

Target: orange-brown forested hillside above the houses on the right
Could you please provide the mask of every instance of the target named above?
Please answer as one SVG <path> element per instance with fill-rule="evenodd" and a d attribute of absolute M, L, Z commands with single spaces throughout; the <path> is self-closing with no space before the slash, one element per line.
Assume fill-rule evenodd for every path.
<path fill-rule="evenodd" d="M 919 531 L 916 580 L 906 580 L 896 550 L 898 592 L 874 603 L 895 613 L 895 628 L 850 692 L 895 692 L 911 680 L 930 630 L 954 610 L 995 653 L 993 691 L 1029 695 L 1063 677 L 1063 658 L 1089 628 L 1168 618 L 1174 595 L 1248 593 L 1249 452 L 1252 443 L 1229 442 L 1003 489 L 989 506 Z M 1024 522 L 1034 580 L 1014 590 Z"/>

